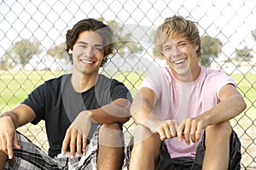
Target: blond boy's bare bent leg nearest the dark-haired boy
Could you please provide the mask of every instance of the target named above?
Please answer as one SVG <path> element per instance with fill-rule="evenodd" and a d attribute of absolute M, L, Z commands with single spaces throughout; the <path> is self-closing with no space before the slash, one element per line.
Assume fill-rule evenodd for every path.
<path fill-rule="evenodd" d="M 155 169 L 159 162 L 160 144 L 159 134 L 152 133 L 146 127 L 137 127 L 129 169 Z"/>

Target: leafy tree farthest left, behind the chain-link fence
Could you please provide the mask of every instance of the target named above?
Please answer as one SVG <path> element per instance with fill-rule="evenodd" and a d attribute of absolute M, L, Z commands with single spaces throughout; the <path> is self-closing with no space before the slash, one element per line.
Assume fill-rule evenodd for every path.
<path fill-rule="evenodd" d="M 42 50 L 39 48 L 40 42 L 38 40 L 22 39 L 15 42 L 14 46 L 4 55 L 4 59 L 8 63 L 15 63 L 25 66 L 32 56 L 35 54 L 41 54 Z M 13 65 L 14 66 L 14 65 Z"/>

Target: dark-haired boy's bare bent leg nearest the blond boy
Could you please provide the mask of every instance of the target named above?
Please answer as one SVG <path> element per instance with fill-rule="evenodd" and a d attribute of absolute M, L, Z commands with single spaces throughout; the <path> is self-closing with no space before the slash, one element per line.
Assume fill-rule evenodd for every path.
<path fill-rule="evenodd" d="M 103 124 L 99 130 L 97 169 L 120 170 L 123 162 L 124 140 L 119 123 Z"/>

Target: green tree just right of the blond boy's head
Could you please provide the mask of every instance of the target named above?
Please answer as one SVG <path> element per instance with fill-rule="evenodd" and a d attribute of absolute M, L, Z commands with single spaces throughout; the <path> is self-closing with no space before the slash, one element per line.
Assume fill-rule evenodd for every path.
<path fill-rule="evenodd" d="M 222 42 L 218 38 L 210 36 L 201 37 L 201 65 L 207 66 L 211 58 L 217 58 Z"/>

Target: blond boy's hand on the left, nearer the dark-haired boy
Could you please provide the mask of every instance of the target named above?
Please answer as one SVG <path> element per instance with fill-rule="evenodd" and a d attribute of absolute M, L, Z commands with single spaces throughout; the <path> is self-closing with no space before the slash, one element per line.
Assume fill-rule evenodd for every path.
<path fill-rule="evenodd" d="M 157 132 L 160 134 L 160 139 L 171 139 L 177 136 L 178 123 L 176 120 L 166 120 L 162 122 Z"/>

